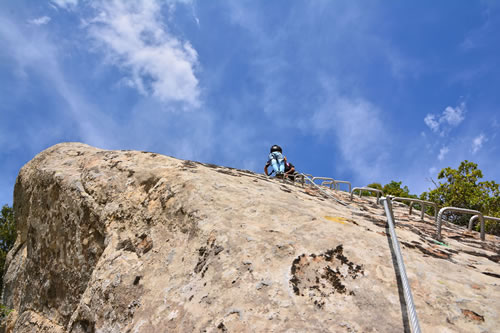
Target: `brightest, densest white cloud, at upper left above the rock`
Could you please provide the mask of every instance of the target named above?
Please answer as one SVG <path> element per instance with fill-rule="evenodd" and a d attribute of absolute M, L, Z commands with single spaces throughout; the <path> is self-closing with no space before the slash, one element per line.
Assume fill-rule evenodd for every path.
<path fill-rule="evenodd" d="M 168 32 L 159 0 L 91 5 L 97 15 L 87 22 L 90 37 L 104 47 L 108 61 L 127 72 L 133 87 L 162 102 L 200 105 L 198 54 L 188 41 Z"/>

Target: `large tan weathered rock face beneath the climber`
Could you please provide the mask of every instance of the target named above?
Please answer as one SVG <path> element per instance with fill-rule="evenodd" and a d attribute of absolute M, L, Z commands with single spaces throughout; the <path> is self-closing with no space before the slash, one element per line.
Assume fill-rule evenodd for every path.
<path fill-rule="evenodd" d="M 14 332 L 403 332 L 386 217 L 263 175 L 78 143 L 20 171 Z M 396 205 L 424 332 L 498 332 L 499 239 Z"/>

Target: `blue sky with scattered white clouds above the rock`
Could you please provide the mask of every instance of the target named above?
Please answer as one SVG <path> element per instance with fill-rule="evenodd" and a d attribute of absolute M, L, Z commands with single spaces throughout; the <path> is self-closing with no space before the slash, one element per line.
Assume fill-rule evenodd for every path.
<path fill-rule="evenodd" d="M 500 180 L 496 1 L 3 1 L 0 204 L 78 141 L 262 172 Z"/>

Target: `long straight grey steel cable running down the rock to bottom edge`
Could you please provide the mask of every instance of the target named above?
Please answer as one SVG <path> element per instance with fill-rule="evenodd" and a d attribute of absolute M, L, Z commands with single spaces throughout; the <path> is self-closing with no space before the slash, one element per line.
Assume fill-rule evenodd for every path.
<path fill-rule="evenodd" d="M 401 283 L 403 284 L 403 293 L 406 301 L 406 307 L 408 311 L 408 317 L 410 318 L 410 325 L 413 333 L 420 333 L 420 324 L 418 322 L 417 311 L 415 309 L 415 304 L 413 303 L 413 296 L 411 294 L 410 283 L 408 282 L 408 277 L 406 276 L 405 264 L 403 262 L 403 255 L 401 254 L 401 248 L 399 246 L 398 238 L 396 236 L 396 230 L 394 228 L 394 214 L 392 212 L 392 201 L 390 197 L 382 197 L 380 201 L 384 205 L 385 215 L 387 216 L 387 224 L 389 225 L 389 234 L 391 235 L 392 247 L 394 249 L 394 254 L 396 256 L 396 262 L 398 264 L 399 276 L 401 277 Z"/>

